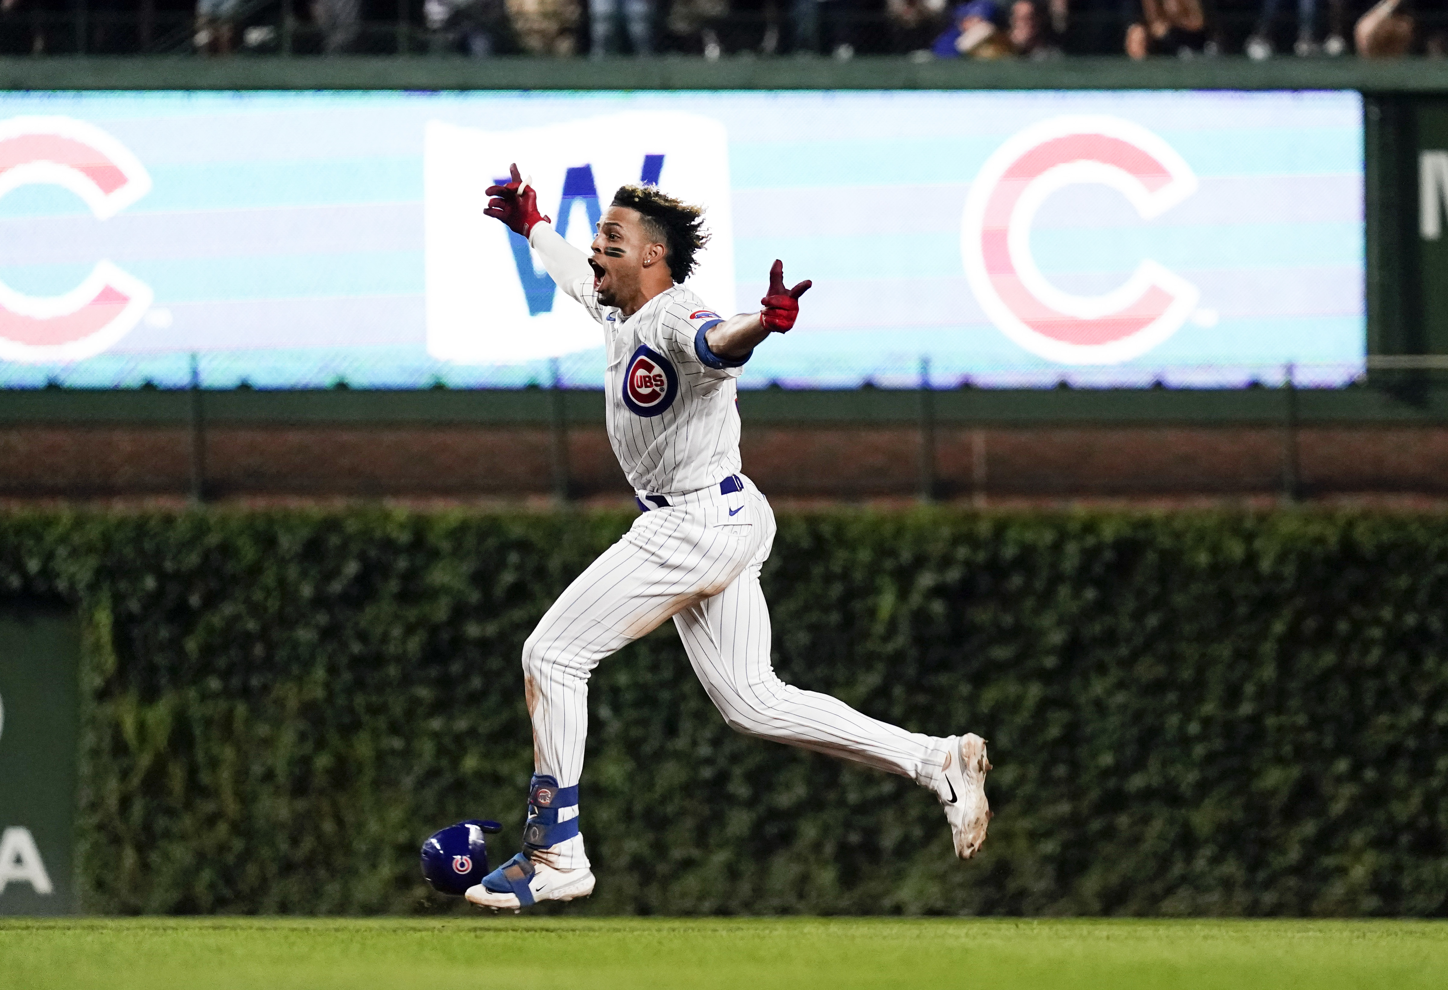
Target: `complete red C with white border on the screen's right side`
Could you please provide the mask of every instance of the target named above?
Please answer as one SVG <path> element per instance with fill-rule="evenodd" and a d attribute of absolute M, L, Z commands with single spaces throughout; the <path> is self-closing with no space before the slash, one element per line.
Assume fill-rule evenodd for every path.
<path fill-rule="evenodd" d="M 1031 255 L 1031 223 L 1045 198 L 1079 182 L 1109 185 L 1142 219 L 1196 192 L 1186 161 L 1154 133 L 1118 117 L 1056 117 L 998 148 L 970 187 L 961 224 L 966 278 L 980 307 L 1031 353 L 1073 365 L 1114 365 L 1176 333 L 1200 292 L 1154 261 L 1119 288 L 1072 295 Z"/>

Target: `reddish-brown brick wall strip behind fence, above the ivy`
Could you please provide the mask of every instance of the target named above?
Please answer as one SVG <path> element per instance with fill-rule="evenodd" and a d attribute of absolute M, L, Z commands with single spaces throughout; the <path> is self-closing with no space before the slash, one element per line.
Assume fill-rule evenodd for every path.
<path fill-rule="evenodd" d="M 214 426 L 204 491 L 243 499 L 536 501 L 553 491 L 555 449 L 533 426 Z M 933 479 L 946 499 L 1273 499 L 1448 496 L 1448 427 L 941 426 L 922 475 L 911 427 L 746 426 L 744 470 L 796 501 L 909 499 Z M 601 427 L 566 434 L 575 498 L 627 502 Z M 184 501 L 193 434 L 175 426 L 0 428 L 0 498 Z"/>

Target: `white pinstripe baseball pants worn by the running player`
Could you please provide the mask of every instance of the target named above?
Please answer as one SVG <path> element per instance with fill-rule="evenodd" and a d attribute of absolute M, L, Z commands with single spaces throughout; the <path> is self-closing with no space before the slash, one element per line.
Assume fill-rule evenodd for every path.
<path fill-rule="evenodd" d="M 930 783 L 944 761 L 943 740 L 775 674 L 759 586 L 775 514 L 753 482 L 731 495 L 714 486 L 669 502 L 640 515 L 579 575 L 523 647 L 537 773 L 562 787 L 578 783 L 594 667 L 672 617 L 694 673 L 731 728 Z M 588 864 L 581 837 L 550 854 L 560 868 Z"/>

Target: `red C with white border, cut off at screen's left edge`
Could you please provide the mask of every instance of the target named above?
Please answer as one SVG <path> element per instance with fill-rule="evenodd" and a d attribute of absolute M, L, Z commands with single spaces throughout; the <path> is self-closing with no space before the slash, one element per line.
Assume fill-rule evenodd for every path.
<path fill-rule="evenodd" d="M 151 191 L 151 175 L 120 142 L 71 117 L 0 122 L 0 195 L 59 185 L 100 220 Z M 151 307 L 151 287 L 107 261 L 64 295 L 26 295 L 0 282 L 0 359 L 77 360 L 101 353 Z"/>

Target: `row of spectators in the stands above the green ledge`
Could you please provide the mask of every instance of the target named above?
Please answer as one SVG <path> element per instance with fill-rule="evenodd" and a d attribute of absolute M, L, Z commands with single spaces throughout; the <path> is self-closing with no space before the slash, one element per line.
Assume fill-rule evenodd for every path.
<path fill-rule="evenodd" d="M 0 0 L 0 55 L 181 51 L 1392 58 L 1448 0 Z"/>

